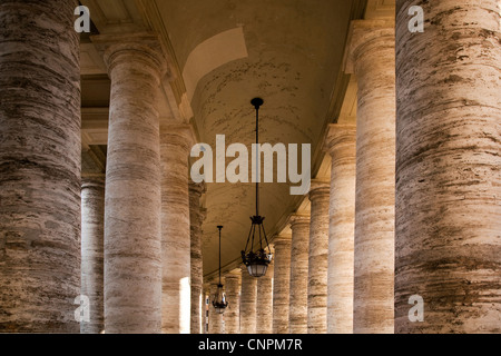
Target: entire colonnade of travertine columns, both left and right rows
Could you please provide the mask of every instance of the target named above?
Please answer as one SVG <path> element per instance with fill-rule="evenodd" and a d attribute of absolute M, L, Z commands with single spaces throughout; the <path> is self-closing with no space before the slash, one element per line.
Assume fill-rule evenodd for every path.
<path fill-rule="evenodd" d="M 75 6 L 0 4 L 0 332 L 203 333 L 204 188 L 188 182 L 189 128 L 158 115 L 166 53 L 151 33 L 92 39 L 111 79 L 108 158 L 81 181 Z M 499 332 L 499 1 L 423 1 L 422 33 L 409 6 L 352 23 L 357 117 L 325 132 L 331 179 L 274 238 L 266 277 L 225 276 L 232 306 L 209 310 L 209 333 Z M 82 295 L 79 325 L 68 300 Z"/>

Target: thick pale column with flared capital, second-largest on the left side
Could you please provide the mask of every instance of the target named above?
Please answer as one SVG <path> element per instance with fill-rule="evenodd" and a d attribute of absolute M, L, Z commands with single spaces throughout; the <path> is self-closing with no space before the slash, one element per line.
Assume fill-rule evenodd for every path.
<path fill-rule="evenodd" d="M 154 36 L 100 36 L 111 79 L 105 207 L 107 334 L 161 327 L 158 92 L 166 71 Z"/>

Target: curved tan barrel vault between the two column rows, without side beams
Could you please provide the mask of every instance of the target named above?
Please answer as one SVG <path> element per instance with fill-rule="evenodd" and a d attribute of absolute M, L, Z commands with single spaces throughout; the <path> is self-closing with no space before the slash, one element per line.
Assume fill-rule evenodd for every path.
<path fill-rule="evenodd" d="M 262 142 L 311 144 L 315 150 L 328 117 L 348 29 L 346 0 L 157 1 L 191 103 L 200 140 L 216 147 L 255 140 L 250 100 L 261 97 Z M 198 70 L 198 72 L 197 72 Z M 227 159 L 229 164 L 232 159 Z M 276 176 L 275 176 L 276 181 Z M 288 184 L 262 184 L 268 234 L 303 197 Z M 204 270 L 217 270 L 217 225 L 223 265 L 239 260 L 255 211 L 252 184 L 209 184 L 204 224 Z"/>

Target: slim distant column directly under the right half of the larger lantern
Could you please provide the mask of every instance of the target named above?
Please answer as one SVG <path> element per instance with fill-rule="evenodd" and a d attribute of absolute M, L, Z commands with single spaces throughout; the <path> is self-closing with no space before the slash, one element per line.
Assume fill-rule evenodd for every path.
<path fill-rule="evenodd" d="M 272 250 L 273 251 L 273 250 Z M 273 275 L 275 261 L 266 275 L 257 278 L 256 334 L 273 334 Z"/>

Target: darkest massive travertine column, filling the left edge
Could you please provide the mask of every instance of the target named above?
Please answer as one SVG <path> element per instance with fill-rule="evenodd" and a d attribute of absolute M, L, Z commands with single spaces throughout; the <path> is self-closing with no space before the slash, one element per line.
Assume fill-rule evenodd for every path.
<path fill-rule="evenodd" d="M 79 333 L 73 0 L 0 2 L 0 333 Z"/>

